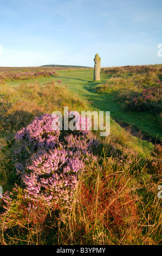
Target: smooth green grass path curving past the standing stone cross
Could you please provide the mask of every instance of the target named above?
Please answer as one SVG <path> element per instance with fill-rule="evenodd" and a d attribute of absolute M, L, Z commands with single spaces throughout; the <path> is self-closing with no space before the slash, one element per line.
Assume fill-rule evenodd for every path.
<path fill-rule="evenodd" d="M 138 113 L 133 114 L 122 111 L 120 104 L 115 101 L 113 94 L 99 94 L 94 87 L 106 82 L 108 77 L 101 74 L 101 82 L 93 82 L 93 70 L 68 70 L 59 72 L 62 83 L 67 83 L 72 92 L 81 97 L 85 97 L 92 102 L 93 108 L 98 111 L 110 111 L 111 117 L 117 121 L 123 121 L 129 125 L 136 126 L 139 130 L 147 133 L 153 138 L 160 139 L 162 132 L 157 124 L 157 118 L 153 114 Z"/>

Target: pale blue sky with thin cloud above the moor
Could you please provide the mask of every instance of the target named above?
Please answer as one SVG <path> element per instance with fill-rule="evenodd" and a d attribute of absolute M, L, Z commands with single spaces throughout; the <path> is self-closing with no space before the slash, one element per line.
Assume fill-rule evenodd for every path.
<path fill-rule="evenodd" d="M 0 0 L 0 66 L 93 67 L 96 53 L 101 67 L 162 64 L 162 1 Z"/>

